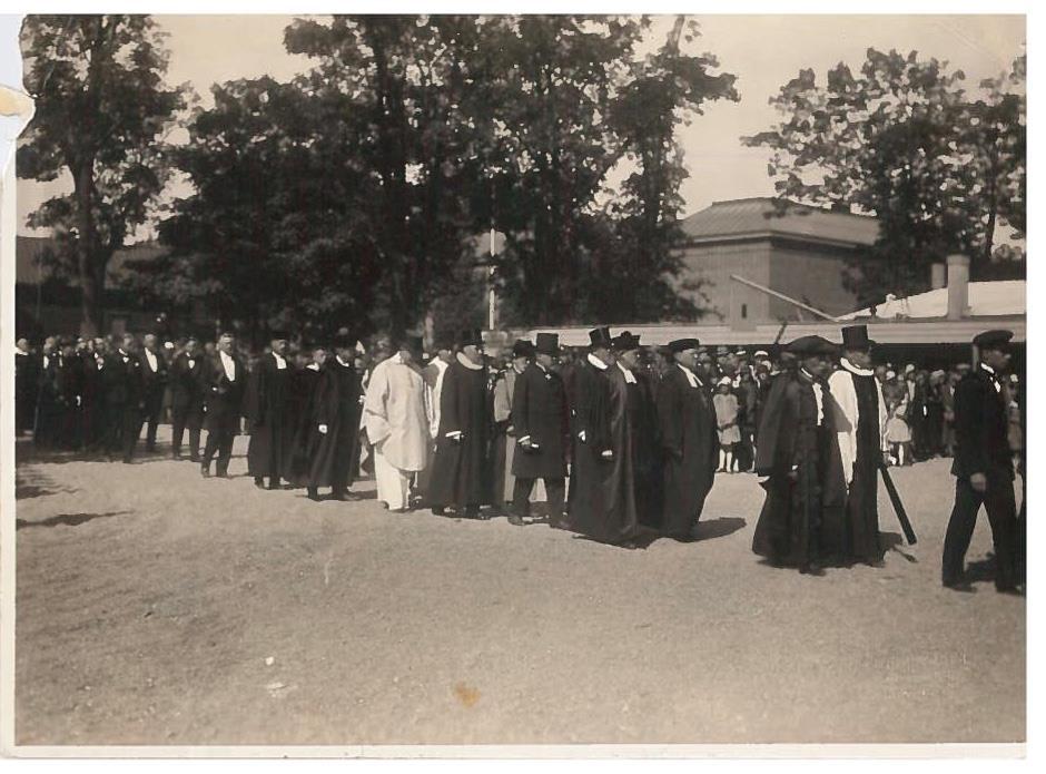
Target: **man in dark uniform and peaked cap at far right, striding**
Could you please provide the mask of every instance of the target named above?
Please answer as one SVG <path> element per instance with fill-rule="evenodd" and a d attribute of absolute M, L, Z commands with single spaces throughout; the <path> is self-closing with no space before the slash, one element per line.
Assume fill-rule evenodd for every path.
<path fill-rule="evenodd" d="M 979 363 L 955 391 L 955 507 L 945 535 L 941 581 L 964 588 L 963 574 L 977 513 L 984 504 L 995 545 L 995 587 L 1017 589 L 1017 506 L 1014 461 L 1007 439 L 1008 415 L 1003 373 L 1009 365 L 1010 331 L 974 337 Z"/>

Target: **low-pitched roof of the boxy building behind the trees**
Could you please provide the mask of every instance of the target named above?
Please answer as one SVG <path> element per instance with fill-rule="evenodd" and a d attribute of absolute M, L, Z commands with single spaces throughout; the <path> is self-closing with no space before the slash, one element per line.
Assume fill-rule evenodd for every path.
<path fill-rule="evenodd" d="M 879 222 L 763 196 L 714 202 L 684 219 L 682 229 L 694 242 L 783 236 L 856 247 L 875 243 Z"/>

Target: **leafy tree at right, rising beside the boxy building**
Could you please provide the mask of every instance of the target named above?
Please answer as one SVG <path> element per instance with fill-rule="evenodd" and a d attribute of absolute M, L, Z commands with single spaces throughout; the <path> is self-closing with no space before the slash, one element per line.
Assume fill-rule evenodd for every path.
<path fill-rule="evenodd" d="M 781 121 L 744 138 L 771 149 L 782 196 L 878 217 L 877 259 L 861 264 L 858 292 L 919 290 L 928 265 L 953 252 L 970 255 L 976 275 L 991 254 L 997 182 L 1023 164 L 996 146 L 1010 144 L 1003 125 L 1019 110 L 968 102 L 964 79 L 915 51 L 868 49 L 858 76 L 840 62 L 819 85 L 801 70 L 770 100 Z"/>

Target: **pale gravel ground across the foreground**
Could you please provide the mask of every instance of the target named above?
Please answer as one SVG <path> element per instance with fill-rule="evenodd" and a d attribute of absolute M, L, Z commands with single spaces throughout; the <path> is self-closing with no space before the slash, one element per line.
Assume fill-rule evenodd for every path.
<path fill-rule="evenodd" d="M 161 429 L 161 438 L 162 438 Z M 162 448 L 162 447 L 161 447 Z M 19 451 L 24 447 L 20 444 Z M 707 538 L 391 515 L 155 459 L 18 467 L 18 744 L 1022 742 L 1025 600 L 939 585 L 948 462 L 886 567 L 801 576 L 720 476 Z M 981 568 L 981 569 L 978 569 Z"/>

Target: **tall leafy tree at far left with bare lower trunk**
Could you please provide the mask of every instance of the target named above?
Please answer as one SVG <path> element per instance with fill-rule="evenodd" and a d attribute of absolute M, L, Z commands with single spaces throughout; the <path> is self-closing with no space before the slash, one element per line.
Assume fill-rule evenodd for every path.
<path fill-rule="evenodd" d="M 164 84 L 164 35 L 147 16 L 29 16 L 22 40 L 36 114 L 18 149 L 18 175 L 53 180 L 68 173 L 73 187 L 45 202 L 29 225 L 52 229 L 52 259 L 78 277 L 82 327 L 97 333 L 106 267 L 164 187 L 160 140 L 185 89 Z"/>

